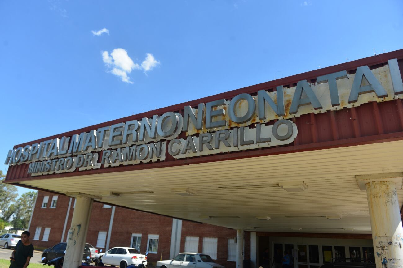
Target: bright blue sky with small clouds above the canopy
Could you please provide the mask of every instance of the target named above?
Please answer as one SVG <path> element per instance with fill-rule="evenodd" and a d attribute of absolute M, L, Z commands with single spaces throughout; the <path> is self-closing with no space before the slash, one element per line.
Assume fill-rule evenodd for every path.
<path fill-rule="evenodd" d="M 402 49 L 403 2 L 3 0 L 0 30 L 4 161 L 18 143 Z"/>

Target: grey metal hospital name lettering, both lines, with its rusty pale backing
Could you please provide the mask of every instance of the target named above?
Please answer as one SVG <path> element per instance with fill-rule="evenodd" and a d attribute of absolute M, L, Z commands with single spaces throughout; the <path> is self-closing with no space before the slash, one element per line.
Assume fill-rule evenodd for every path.
<path fill-rule="evenodd" d="M 327 74 L 276 90 L 242 93 L 69 137 L 8 151 L 4 164 L 28 164 L 32 176 L 288 144 L 297 136 L 294 117 L 400 98 L 403 83 L 397 59 L 370 70 Z M 277 119 L 274 124 L 273 119 Z M 270 125 L 269 125 L 270 124 Z M 186 132 L 186 135 L 181 133 Z M 180 138 L 185 137 L 185 138 Z"/>

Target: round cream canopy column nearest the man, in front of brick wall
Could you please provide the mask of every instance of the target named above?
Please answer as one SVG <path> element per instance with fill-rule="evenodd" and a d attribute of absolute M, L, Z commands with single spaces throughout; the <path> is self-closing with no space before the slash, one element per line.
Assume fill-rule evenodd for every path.
<path fill-rule="evenodd" d="M 77 196 L 76 206 L 67 237 L 64 268 L 77 268 L 83 260 L 85 239 L 87 238 L 89 216 L 91 215 L 93 198 Z"/>

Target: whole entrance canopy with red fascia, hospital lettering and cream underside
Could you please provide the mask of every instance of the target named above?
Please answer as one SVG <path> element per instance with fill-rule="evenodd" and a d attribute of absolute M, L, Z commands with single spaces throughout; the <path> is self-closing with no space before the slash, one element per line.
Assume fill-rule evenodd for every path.
<path fill-rule="evenodd" d="M 16 145 L 5 182 L 234 229 L 371 233 L 357 176 L 395 174 L 403 200 L 402 70 L 393 51 Z"/>

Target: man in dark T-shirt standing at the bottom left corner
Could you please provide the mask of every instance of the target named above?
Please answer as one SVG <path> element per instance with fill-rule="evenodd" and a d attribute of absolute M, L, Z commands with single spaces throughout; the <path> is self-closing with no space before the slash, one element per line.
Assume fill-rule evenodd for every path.
<path fill-rule="evenodd" d="M 21 234 L 21 240 L 18 241 L 11 253 L 11 264 L 9 268 L 27 268 L 29 261 L 33 256 L 33 245 L 29 241 L 29 231 Z"/>

